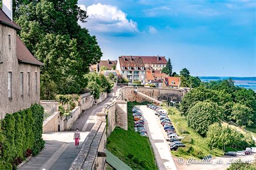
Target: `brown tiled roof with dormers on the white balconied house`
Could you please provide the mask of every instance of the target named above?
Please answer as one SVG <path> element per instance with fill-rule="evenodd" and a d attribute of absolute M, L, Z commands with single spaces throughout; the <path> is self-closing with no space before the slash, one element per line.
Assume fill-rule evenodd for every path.
<path fill-rule="evenodd" d="M 130 56 L 127 56 L 127 57 L 119 56 L 118 60 L 119 60 L 121 69 L 122 69 L 122 67 L 125 67 L 125 69 L 128 69 L 128 67 L 131 67 L 131 69 L 134 69 L 134 67 L 136 67 L 136 66 L 138 67 L 138 69 L 140 69 L 140 67 L 144 67 L 144 69 L 145 69 L 144 62 L 143 62 L 142 58 L 133 58 Z M 124 69 L 122 69 L 122 70 L 124 70 Z"/>

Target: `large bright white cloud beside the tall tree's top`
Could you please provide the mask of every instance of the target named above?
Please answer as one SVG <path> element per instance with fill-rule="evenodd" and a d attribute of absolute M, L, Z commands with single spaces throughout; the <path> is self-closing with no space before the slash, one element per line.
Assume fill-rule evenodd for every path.
<path fill-rule="evenodd" d="M 135 34 L 138 33 L 138 24 L 126 18 L 127 14 L 117 6 L 104 5 L 101 3 L 88 6 L 78 5 L 87 11 L 87 22 L 79 24 L 95 33 L 110 34 Z"/>

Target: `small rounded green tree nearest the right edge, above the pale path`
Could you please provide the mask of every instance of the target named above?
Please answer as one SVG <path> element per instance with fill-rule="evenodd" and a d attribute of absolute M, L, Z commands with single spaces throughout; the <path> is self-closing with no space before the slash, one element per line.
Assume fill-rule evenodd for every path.
<path fill-rule="evenodd" d="M 232 118 L 239 126 L 250 126 L 253 124 L 252 109 L 244 104 L 235 103 L 232 111 Z"/>

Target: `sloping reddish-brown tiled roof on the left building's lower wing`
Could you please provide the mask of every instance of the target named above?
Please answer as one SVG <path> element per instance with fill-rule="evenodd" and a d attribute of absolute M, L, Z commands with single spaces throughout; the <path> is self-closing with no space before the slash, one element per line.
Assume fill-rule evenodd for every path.
<path fill-rule="evenodd" d="M 18 36 L 16 36 L 16 49 L 17 49 L 17 58 L 19 62 L 23 63 L 29 63 L 32 65 L 38 65 L 43 66 L 44 64 L 37 60 L 29 51 L 28 48 L 26 48 L 25 44 L 22 42 L 21 39 L 19 39 Z"/>

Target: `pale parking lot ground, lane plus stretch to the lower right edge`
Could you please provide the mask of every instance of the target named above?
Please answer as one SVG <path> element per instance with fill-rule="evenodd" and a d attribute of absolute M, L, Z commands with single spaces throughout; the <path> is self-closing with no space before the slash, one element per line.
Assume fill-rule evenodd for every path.
<path fill-rule="evenodd" d="M 138 105 L 137 107 L 142 111 L 147 136 L 150 138 L 159 169 L 226 169 L 232 162 L 239 159 L 249 162 L 255 160 L 256 154 L 254 153 L 243 156 L 237 155 L 237 157 L 225 155 L 212 158 L 211 161 L 203 164 L 193 162 L 192 159 L 178 163 L 178 158 L 171 155 L 169 141 L 166 141 L 167 133 L 161 125 L 159 117 L 155 115 L 155 111 L 147 108 L 146 105 Z"/>

